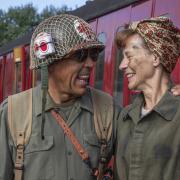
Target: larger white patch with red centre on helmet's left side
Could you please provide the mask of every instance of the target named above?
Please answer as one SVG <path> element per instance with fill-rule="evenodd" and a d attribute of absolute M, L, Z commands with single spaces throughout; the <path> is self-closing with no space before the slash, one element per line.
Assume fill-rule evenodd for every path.
<path fill-rule="evenodd" d="M 34 40 L 34 54 L 38 59 L 44 59 L 46 56 L 55 53 L 54 44 L 50 34 L 39 33 Z"/>

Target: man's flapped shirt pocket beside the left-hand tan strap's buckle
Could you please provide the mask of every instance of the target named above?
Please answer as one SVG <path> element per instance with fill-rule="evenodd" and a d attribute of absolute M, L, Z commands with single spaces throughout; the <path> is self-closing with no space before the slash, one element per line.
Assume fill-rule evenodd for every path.
<path fill-rule="evenodd" d="M 51 180 L 54 177 L 53 136 L 32 135 L 25 148 L 24 179 Z"/>

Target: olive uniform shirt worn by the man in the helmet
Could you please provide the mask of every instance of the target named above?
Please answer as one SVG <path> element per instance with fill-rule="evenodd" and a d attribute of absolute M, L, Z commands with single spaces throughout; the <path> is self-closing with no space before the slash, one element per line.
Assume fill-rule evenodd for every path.
<path fill-rule="evenodd" d="M 45 139 L 41 139 L 41 108 L 41 89 L 36 87 L 33 90 L 32 134 L 25 148 L 24 180 L 94 180 L 89 168 L 51 115 L 50 109 L 58 110 L 58 107 L 52 103 L 49 96 L 45 113 Z M 74 102 L 71 110 L 68 108 L 66 113 L 63 111 L 61 108 L 58 110 L 88 152 L 92 167 L 98 167 L 100 142 L 94 128 L 89 90 Z M 114 120 L 118 119 L 119 111 L 120 108 L 116 108 Z M 114 135 L 108 143 L 109 157 L 112 154 L 113 139 Z M 13 179 L 15 154 L 16 149 L 7 127 L 7 101 L 5 101 L 1 105 L 0 119 L 0 180 Z"/>

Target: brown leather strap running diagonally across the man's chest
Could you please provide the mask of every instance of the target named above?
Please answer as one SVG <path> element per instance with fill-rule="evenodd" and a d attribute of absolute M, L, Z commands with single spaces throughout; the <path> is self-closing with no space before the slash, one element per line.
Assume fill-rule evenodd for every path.
<path fill-rule="evenodd" d="M 91 167 L 91 163 L 90 163 L 90 159 L 89 159 L 88 153 L 81 146 L 81 144 L 79 143 L 78 139 L 76 138 L 76 136 L 74 135 L 72 130 L 68 127 L 68 125 L 63 120 L 63 118 L 55 110 L 51 110 L 51 114 L 56 119 L 58 124 L 62 127 L 62 129 L 64 130 L 64 133 L 67 135 L 67 137 L 69 138 L 69 140 L 71 141 L 71 143 L 75 147 L 75 149 L 78 152 L 78 154 L 80 155 L 81 159 L 88 165 L 88 167 L 91 170 L 91 174 L 93 176 L 98 176 L 98 170 L 97 169 L 93 169 Z"/>

